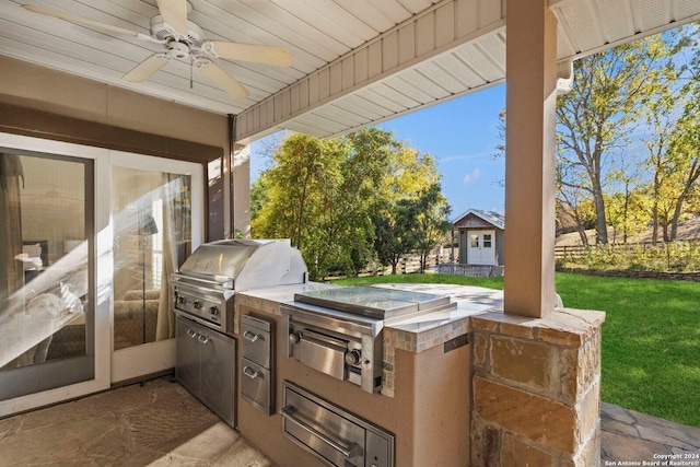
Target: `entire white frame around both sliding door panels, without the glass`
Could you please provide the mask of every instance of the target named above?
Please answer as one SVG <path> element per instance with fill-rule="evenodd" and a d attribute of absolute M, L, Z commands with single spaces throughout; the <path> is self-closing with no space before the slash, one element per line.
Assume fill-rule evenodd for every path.
<path fill-rule="evenodd" d="M 94 280 L 90 293 L 94 301 L 94 378 L 68 386 L 30 394 L 0 401 L 0 417 L 70 400 L 77 397 L 108 389 L 113 382 L 155 373 L 174 366 L 175 339 L 152 342 L 133 348 L 130 352 L 113 353 L 112 328 L 114 324 L 114 226 L 112 224 L 112 165 L 124 165 L 139 170 L 171 173 L 189 173 L 192 185 L 192 249 L 205 235 L 205 167 L 200 163 L 107 150 L 42 138 L 5 133 L 0 131 L 0 147 L 18 151 L 66 155 L 93 160 L 94 167 L 94 215 L 89 258 L 92 258 Z M 145 349 L 144 349 L 145 348 Z M 125 349 L 126 350 L 126 349 Z M 136 360 L 138 364 L 133 364 Z"/>

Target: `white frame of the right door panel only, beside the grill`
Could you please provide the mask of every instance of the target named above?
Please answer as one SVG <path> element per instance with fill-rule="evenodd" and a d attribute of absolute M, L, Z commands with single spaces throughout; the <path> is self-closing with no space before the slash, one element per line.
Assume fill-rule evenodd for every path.
<path fill-rule="evenodd" d="M 189 175 L 191 180 L 191 248 L 195 250 L 202 242 L 205 234 L 205 167 L 196 162 L 184 162 L 143 154 L 135 154 L 120 151 L 109 151 L 109 185 L 112 194 L 114 178 L 112 167 L 126 167 L 147 172 Z M 113 213 L 113 205 L 109 205 L 109 217 Z M 114 224 L 112 223 L 114 229 Z M 114 230 L 113 236 L 114 237 Z M 112 248 L 112 247 L 110 247 Z M 114 265 L 114 252 L 112 265 Z M 110 267 L 112 267 L 110 265 Z M 110 270 L 112 275 L 112 270 Z M 114 285 L 114 283 L 113 283 Z M 114 290 L 114 288 L 113 288 Z M 114 307 L 114 301 L 112 302 Z M 148 342 L 141 346 L 113 350 L 114 310 L 110 314 L 109 342 L 112 351 L 110 381 L 113 383 L 135 380 L 149 374 L 158 374 L 175 366 L 175 339 Z"/>

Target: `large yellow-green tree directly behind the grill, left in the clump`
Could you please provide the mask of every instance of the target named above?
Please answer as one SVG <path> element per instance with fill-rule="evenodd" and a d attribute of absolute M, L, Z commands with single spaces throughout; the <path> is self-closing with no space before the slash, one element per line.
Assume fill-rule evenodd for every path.
<path fill-rule="evenodd" d="M 254 235 L 291 238 L 312 279 L 330 268 L 357 270 L 371 256 L 369 212 L 392 144 L 380 129 L 326 140 L 290 135 L 261 174 L 267 202 L 252 221 Z"/>

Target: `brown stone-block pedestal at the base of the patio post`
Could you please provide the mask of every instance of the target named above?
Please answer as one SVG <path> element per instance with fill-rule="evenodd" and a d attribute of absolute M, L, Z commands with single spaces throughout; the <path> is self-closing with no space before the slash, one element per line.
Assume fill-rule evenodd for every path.
<path fill-rule="evenodd" d="M 600 463 L 603 312 L 471 317 L 471 465 Z"/>

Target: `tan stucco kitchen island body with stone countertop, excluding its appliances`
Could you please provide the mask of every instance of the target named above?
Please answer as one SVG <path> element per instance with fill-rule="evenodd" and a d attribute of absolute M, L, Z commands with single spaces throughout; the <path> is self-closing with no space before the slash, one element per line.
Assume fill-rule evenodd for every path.
<path fill-rule="evenodd" d="M 291 347 L 290 337 L 291 341 L 298 339 L 290 336 L 287 327 L 289 320 L 284 318 L 282 304 L 293 302 L 298 294 L 313 295 L 327 290 L 335 292 L 332 289 L 337 288 L 305 283 L 258 289 L 236 296 L 236 334 L 241 332 L 241 323 L 246 315 L 268 320 L 275 329 L 273 408 L 268 412 L 259 410 L 240 392 L 237 429 L 242 435 L 280 466 L 326 465 L 318 456 L 301 448 L 299 441 L 295 443 L 283 434 L 283 424 L 290 423 L 288 416 L 282 417 L 280 411 L 289 404 L 285 401 L 284 390 L 285 386 L 291 385 L 329 402 L 326 407 L 330 407 L 331 411 L 347 411 L 392 435 L 393 453 L 389 456 L 395 462 L 393 465 L 468 465 L 471 354 L 468 317 L 500 304 L 500 292 L 491 293 L 481 289 L 479 291 L 483 304 L 464 302 L 462 307 L 448 306 L 447 310 L 393 320 L 386 325 L 382 334 L 382 388 L 381 392 L 372 393 L 359 383 L 341 381 L 298 359 L 287 357 L 290 354 L 287 351 Z M 387 295 L 401 293 L 398 290 L 376 291 Z M 241 346 L 246 345 L 245 340 L 246 337 L 243 336 Z M 240 362 L 238 367 L 244 366 L 245 363 Z M 246 374 L 240 373 L 241 380 L 246 377 Z M 243 384 L 242 381 L 241 385 Z M 330 421 L 331 425 L 334 423 Z M 308 429 L 308 424 L 305 429 Z M 315 440 L 313 443 L 320 444 L 320 451 L 345 450 L 350 456 L 357 454 L 352 452 L 353 443 L 342 446 L 342 443 L 335 443 L 337 437 L 328 437 L 330 440 Z M 328 446 L 323 446 L 327 443 L 335 443 L 336 447 L 329 450 Z M 372 448 L 372 443 L 363 447 L 368 453 Z M 384 447 L 381 448 L 382 452 L 383 450 Z M 377 455 L 376 460 L 373 457 L 369 456 L 364 463 L 357 465 L 392 465 L 385 463 L 383 455 Z M 355 465 L 354 462 L 348 465 Z"/>

